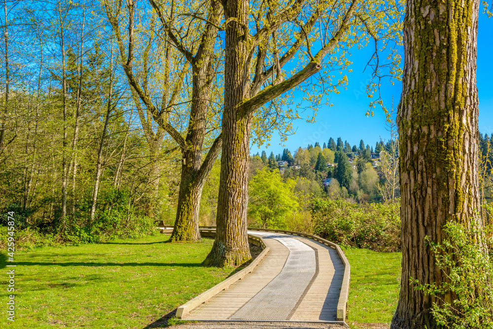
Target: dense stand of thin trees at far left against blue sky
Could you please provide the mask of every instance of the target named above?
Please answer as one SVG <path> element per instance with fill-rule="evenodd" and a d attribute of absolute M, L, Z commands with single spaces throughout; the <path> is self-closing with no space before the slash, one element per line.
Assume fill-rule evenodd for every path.
<path fill-rule="evenodd" d="M 136 105 L 100 9 L 2 6 L 0 211 L 20 242 L 133 237 L 176 211 L 176 145 Z"/>

